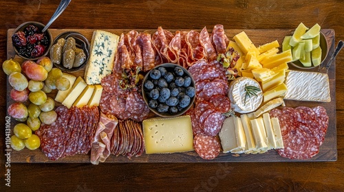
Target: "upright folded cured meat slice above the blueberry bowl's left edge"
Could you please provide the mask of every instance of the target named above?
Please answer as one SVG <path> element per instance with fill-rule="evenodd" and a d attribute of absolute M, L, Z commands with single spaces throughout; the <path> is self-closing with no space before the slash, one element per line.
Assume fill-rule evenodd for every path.
<path fill-rule="evenodd" d="M 140 45 L 143 60 L 143 71 L 149 71 L 155 67 L 155 52 L 152 47 L 151 34 L 140 33 L 136 39 Z"/>

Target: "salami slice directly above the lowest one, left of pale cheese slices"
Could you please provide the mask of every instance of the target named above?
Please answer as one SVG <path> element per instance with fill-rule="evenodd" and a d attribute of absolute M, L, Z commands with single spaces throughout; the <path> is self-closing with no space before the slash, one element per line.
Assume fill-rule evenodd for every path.
<path fill-rule="evenodd" d="M 210 136 L 215 136 L 219 133 L 224 123 L 224 115 L 221 112 L 213 112 L 206 117 L 204 121 L 204 133 Z"/>

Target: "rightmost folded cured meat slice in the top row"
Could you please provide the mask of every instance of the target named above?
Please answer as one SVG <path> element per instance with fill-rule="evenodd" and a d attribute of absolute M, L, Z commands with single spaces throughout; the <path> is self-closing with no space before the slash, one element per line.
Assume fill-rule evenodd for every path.
<path fill-rule="evenodd" d="M 227 45 L 229 43 L 228 37 L 224 33 L 223 25 L 215 25 L 211 34 L 211 41 L 216 49 L 217 54 L 226 53 Z"/>

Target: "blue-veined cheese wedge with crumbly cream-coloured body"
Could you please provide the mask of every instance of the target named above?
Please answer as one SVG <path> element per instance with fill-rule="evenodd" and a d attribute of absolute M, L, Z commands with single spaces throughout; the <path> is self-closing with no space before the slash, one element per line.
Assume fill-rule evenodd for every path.
<path fill-rule="evenodd" d="M 102 30 L 92 36 L 89 60 L 85 69 L 87 84 L 100 84 L 106 75 L 111 74 L 120 37 Z"/>

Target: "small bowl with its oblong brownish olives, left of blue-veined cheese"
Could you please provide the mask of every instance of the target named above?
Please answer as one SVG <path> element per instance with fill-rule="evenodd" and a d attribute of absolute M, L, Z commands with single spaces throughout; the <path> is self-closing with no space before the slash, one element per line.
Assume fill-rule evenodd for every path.
<path fill-rule="evenodd" d="M 89 41 L 78 32 L 64 32 L 52 43 L 50 58 L 61 71 L 78 71 L 89 59 Z"/>

